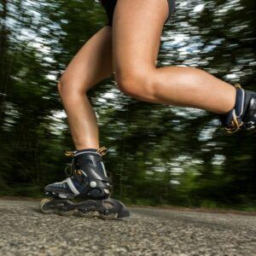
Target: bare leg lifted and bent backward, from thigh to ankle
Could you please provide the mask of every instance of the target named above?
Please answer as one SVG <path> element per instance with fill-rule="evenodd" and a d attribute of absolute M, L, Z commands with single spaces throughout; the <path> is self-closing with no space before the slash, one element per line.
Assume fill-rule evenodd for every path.
<path fill-rule="evenodd" d="M 155 67 L 168 15 L 166 0 L 119 0 L 113 16 L 113 60 L 119 88 L 137 99 L 227 113 L 236 90 L 191 67 Z"/>

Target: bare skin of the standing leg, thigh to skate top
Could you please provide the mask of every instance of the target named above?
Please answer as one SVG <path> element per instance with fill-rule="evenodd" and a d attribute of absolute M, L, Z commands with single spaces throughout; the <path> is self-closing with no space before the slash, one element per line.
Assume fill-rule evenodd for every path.
<path fill-rule="evenodd" d="M 99 148 L 96 116 L 86 92 L 113 72 L 112 28 L 103 27 L 74 56 L 58 84 L 77 150 Z"/>

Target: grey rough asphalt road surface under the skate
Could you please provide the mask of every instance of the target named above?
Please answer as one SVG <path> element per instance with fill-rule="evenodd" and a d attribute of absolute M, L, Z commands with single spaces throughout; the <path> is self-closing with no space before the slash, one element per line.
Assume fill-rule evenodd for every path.
<path fill-rule="evenodd" d="M 131 208 L 104 221 L 38 212 L 0 201 L 0 255 L 256 255 L 256 217 Z"/>

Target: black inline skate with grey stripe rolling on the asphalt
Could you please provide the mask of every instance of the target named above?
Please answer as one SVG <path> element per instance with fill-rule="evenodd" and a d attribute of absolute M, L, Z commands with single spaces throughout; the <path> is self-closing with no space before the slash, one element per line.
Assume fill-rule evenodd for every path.
<path fill-rule="evenodd" d="M 67 152 L 73 157 L 71 164 L 73 176 L 60 183 L 52 183 L 44 188 L 45 194 L 53 197 L 52 201 L 43 200 L 40 209 L 44 213 L 57 210 L 61 215 L 71 215 L 74 210 L 80 216 L 99 216 L 104 219 L 124 218 L 130 214 L 120 201 L 109 198 L 111 180 L 107 176 L 102 155 L 107 148 L 84 149 Z M 72 199 L 88 199 L 73 203 Z"/>

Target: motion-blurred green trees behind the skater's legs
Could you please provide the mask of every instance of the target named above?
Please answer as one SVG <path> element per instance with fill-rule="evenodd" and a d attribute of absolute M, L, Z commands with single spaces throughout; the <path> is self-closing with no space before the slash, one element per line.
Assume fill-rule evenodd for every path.
<path fill-rule="evenodd" d="M 254 0 L 180 0 L 158 67 L 200 67 L 256 90 Z M 0 195 L 43 196 L 73 150 L 57 79 L 106 24 L 93 0 L 1 0 Z M 212 89 L 213 90 L 213 89 Z M 227 135 L 218 116 L 137 102 L 113 77 L 90 91 L 113 197 L 128 204 L 256 209 L 255 135 Z M 207 100 L 207 99 L 206 99 Z"/>

